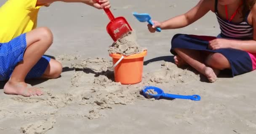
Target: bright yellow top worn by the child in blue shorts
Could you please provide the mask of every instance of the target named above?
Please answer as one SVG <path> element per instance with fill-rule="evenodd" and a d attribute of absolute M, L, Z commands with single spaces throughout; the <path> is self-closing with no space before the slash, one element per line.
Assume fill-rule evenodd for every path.
<path fill-rule="evenodd" d="M 7 0 L 0 8 L 0 43 L 37 27 L 37 0 Z"/>

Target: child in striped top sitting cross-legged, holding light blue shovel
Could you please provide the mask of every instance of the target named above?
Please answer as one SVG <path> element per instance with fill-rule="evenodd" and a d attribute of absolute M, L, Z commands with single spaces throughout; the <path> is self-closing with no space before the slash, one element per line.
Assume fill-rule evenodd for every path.
<path fill-rule="evenodd" d="M 176 34 L 171 40 L 171 53 L 177 66 L 189 64 L 216 81 L 220 70 L 232 77 L 256 69 L 256 0 L 200 0 L 187 13 L 164 22 L 148 25 L 162 29 L 183 28 L 203 17 L 210 10 L 216 14 L 219 36 Z"/>

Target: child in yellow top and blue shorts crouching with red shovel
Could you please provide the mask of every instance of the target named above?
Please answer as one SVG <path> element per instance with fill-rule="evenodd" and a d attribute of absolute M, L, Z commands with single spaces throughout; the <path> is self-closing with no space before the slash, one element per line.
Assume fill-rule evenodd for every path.
<path fill-rule="evenodd" d="M 61 63 L 43 56 L 53 43 L 53 34 L 48 28 L 36 28 L 39 8 L 55 1 L 110 8 L 108 0 L 100 0 L 101 5 L 96 0 L 8 0 L 0 8 L 0 80 L 8 80 L 6 94 L 42 95 L 41 90 L 25 83 L 25 78 L 60 76 Z"/>

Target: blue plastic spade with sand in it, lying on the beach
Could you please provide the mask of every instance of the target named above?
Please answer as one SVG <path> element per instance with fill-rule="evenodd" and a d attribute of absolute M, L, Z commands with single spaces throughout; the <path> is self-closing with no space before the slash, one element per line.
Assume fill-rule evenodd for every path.
<path fill-rule="evenodd" d="M 153 95 L 150 92 L 146 93 L 147 90 L 154 90 L 155 92 L 157 92 L 157 95 Z M 144 89 L 142 90 L 143 95 L 146 98 L 155 98 L 156 100 L 162 98 L 174 98 L 174 99 L 189 99 L 189 100 L 193 100 L 193 101 L 200 101 L 201 97 L 199 95 L 174 95 L 174 94 L 168 94 L 168 93 L 164 93 L 162 89 L 157 88 L 157 87 L 153 87 L 153 86 L 145 86 Z"/>

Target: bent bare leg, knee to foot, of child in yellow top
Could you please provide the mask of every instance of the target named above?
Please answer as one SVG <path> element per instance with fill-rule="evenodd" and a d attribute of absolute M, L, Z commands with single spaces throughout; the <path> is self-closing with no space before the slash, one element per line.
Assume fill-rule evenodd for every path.
<path fill-rule="evenodd" d="M 36 28 L 26 34 L 27 48 L 24 52 L 23 61 L 14 68 L 11 78 L 4 86 L 6 94 L 23 96 L 42 95 L 43 92 L 37 88 L 29 88 L 24 82 L 29 70 L 43 56 L 53 42 L 53 35 L 48 28 Z M 51 68 L 51 67 L 50 67 Z M 51 72 L 51 69 L 49 70 Z"/>

